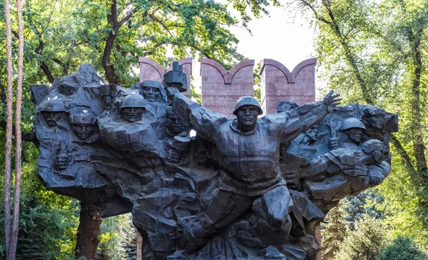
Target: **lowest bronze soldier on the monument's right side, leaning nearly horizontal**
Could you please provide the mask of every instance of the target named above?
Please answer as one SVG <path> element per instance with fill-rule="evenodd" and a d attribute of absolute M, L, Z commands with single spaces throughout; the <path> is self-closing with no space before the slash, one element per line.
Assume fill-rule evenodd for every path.
<path fill-rule="evenodd" d="M 383 154 L 384 144 L 371 139 L 361 151 L 340 148 L 318 156 L 307 166 L 305 189 L 312 199 L 330 202 L 357 194 L 388 176 L 391 167 Z"/>

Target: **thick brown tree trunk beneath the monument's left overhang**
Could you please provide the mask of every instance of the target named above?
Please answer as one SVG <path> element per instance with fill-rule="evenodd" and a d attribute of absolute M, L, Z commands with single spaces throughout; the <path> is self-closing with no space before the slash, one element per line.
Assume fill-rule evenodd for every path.
<path fill-rule="evenodd" d="M 95 260 L 100 234 L 101 213 L 97 206 L 90 202 L 81 201 L 80 224 L 77 229 L 76 258 L 86 256 Z"/>

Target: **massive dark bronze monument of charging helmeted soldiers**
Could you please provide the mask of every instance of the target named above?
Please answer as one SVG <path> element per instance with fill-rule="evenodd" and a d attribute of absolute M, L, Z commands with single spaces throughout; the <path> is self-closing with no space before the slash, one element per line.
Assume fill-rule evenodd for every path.
<path fill-rule="evenodd" d="M 174 63 L 125 89 L 82 64 L 31 87 L 44 186 L 131 212 L 144 259 L 315 259 L 325 214 L 389 174 L 396 114 L 330 92 L 266 116 L 245 96 L 228 119 L 180 94 L 185 80 Z"/>

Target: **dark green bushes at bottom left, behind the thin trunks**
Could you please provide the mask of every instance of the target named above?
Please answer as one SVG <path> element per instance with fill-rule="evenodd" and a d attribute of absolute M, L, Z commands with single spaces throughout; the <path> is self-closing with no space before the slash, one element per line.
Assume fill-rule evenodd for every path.
<path fill-rule="evenodd" d="M 58 196 L 58 195 L 56 195 Z M 2 214 L 4 216 L 4 214 Z M 51 209 L 36 196 L 21 200 L 16 259 L 65 259 L 74 254 L 78 203 Z M 1 218 L 0 244 L 4 245 L 4 219 Z M 4 246 L 1 246 L 4 256 Z"/>

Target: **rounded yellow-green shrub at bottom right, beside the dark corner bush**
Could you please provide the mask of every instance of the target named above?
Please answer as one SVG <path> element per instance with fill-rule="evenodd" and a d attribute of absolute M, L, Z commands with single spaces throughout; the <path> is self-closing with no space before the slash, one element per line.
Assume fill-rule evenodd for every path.
<path fill-rule="evenodd" d="M 363 215 L 355 224 L 355 231 L 347 231 L 334 259 L 375 259 L 386 244 L 384 226 L 379 220 Z"/>

